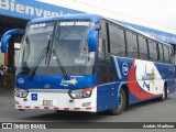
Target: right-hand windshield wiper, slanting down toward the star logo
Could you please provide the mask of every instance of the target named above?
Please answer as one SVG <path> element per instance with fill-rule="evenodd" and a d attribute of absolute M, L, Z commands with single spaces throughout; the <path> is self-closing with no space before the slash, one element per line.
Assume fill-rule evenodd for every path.
<path fill-rule="evenodd" d="M 54 56 L 57 57 L 56 62 L 57 62 L 59 68 L 62 69 L 62 72 L 63 72 L 64 79 L 67 80 L 67 79 L 68 79 L 68 75 L 67 75 L 67 73 L 66 73 L 66 70 L 65 70 L 65 68 L 64 68 L 64 66 L 63 66 L 63 64 L 62 64 L 62 62 L 61 62 L 61 59 L 59 59 L 56 51 L 55 51 L 55 50 L 52 50 L 52 52 L 53 52 Z"/>

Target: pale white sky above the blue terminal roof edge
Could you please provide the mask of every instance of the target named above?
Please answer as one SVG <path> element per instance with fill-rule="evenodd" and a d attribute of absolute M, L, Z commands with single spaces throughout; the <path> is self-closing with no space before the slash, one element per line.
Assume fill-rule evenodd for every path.
<path fill-rule="evenodd" d="M 40 0 L 61 4 L 62 0 Z M 57 2 L 56 2 L 57 1 Z M 63 0 L 64 1 L 64 0 Z M 67 0 L 68 1 L 68 0 Z M 69 0 L 176 31 L 176 0 Z M 72 4 L 70 4 L 72 9 Z"/>

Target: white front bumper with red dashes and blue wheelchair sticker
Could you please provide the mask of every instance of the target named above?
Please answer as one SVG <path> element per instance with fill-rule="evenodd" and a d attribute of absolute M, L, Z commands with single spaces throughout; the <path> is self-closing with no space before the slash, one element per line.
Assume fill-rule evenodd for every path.
<path fill-rule="evenodd" d="M 25 98 L 14 96 L 15 109 L 43 109 L 97 112 L 97 87 L 89 98 L 73 99 L 68 90 L 32 89 Z"/>

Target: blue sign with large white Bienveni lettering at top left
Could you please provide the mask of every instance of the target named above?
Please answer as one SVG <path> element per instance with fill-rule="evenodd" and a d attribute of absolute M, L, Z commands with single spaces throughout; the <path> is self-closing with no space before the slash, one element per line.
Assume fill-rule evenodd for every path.
<path fill-rule="evenodd" d="M 74 13 L 80 12 L 34 0 L 0 0 L 0 14 L 21 19 L 31 20 Z"/>

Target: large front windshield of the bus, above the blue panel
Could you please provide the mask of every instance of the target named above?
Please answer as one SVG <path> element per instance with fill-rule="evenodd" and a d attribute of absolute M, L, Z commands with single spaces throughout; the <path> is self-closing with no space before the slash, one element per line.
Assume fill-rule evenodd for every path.
<path fill-rule="evenodd" d="M 18 75 L 92 75 L 95 52 L 88 52 L 92 22 L 31 24 L 23 37 Z M 31 76 L 30 75 L 30 76 Z"/>

